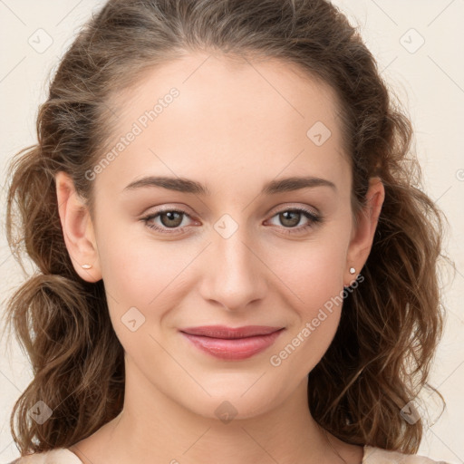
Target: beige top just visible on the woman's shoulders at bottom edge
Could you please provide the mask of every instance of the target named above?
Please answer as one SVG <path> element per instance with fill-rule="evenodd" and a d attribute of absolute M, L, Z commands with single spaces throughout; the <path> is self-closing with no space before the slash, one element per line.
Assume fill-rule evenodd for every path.
<path fill-rule="evenodd" d="M 24 458 L 16 459 L 10 464 L 82 464 L 69 449 L 59 448 L 43 453 L 35 453 Z M 450 464 L 443 460 L 437 461 L 416 454 L 403 454 L 387 451 L 381 448 L 364 446 L 362 464 Z"/>

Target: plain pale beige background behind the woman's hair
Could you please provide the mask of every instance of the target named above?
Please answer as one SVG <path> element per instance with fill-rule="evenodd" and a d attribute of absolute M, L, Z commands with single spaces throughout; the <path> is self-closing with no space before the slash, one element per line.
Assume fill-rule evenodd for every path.
<path fill-rule="evenodd" d="M 462 463 L 464 0 L 336 0 L 334 4 L 360 27 L 382 75 L 410 111 L 425 189 L 449 218 L 446 246 L 458 272 L 454 281 L 443 276 L 448 319 L 431 377 L 448 407 L 435 422 L 437 408 L 428 400 L 431 424 L 419 453 Z M 95 0 L 0 0 L 2 309 L 5 298 L 22 280 L 5 242 L 5 166 L 14 152 L 35 142 L 35 117 L 39 102 L 44 100 L 46 78 L 73 41 L 73 34 L 100 5 L 102 2 Z M 38 42 L 37 36 L 41 40 L 34 49 L 28 41 Z M 46 50 L 37 49 L 48 45 L 47 41 L 53 43 Z M 9 432 L 9 415 L 30 382 L 31 372 L 17 346 L 11 347 L 11 354 L 6 353 L 5 346 L 0 350 L 0 462 L 6 463 L 18 455 Z"/>

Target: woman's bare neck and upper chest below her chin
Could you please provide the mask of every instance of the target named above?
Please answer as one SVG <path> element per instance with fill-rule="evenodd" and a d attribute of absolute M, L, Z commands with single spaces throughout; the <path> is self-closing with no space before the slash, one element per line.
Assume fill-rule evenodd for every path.
<path fill-rule="evenodd" d="M 147 394 L 143 379 L 127 377 L 134 382 L 126 382 L 121 413 L 71 448 L 84 464 L 199 464 L 211 457 L 221 464 L 343 464 L 362 460 L 361 447 L 348 445 L 352 448 L 343 449 L 341 445 L 346 444 L 325 434 L 312 418 L 307 378 L 277 407 L 227 421 L 226 416 L 219 416 L 220 420 L 189 411 L 152 385 Z"/>

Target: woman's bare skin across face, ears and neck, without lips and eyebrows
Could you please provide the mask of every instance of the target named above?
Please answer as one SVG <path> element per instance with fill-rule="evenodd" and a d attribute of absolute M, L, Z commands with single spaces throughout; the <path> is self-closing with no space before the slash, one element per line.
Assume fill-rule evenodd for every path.
<path fill-rule="evenodd" d="M 359 463 L 362 447 L 329 433 L 327 440 L 307 404 L 307 374 L 332 342 L 342 304 L 279 366 L 269 359 L 362 269 L 382 208 L 382 182 L 371 179 L 356 225 L 333 91 L 275 60 L 208 56 L 190 53 L 150 70 L 113 98 L 116 143 L 171 87 L 179 89 L 93 180 L 93 217 L 73 181 L 56 175 L 66 247 L 82 279 L 103 279 L 126 366 L 123 411 L 71 450 L 92 464 Z M 321 146 L 306 136 L 315 121 L 332 132 Z M 147 175 L 193 179 L 212 195 L 124 191 Z M 293 176 L 328 179 L 336 189 L 260 194 L 267 181 Z M 140 220 L 160 207 L 189 215 L 179 218 L 183 232 L 163 234 Z M 318 212 L 324 222 L 303 230 L 310 219 L 301 215 L 289 225 L 278 213 L 292 208 Z M 237 224 L 227 238 L 214 228 L 226 213 Z M 166 217 L 149 224 L 173 230 Z M 300 232 L 285 233 L 292 227 Z M 121 317 L 134 306 L 145 322 L 132 332 Z M 224 361 L 179 333 L 208 324 L 285 331 L 265 352 Z M 215 412 L 223 401 L 237 411 L 227 423 Z"/>

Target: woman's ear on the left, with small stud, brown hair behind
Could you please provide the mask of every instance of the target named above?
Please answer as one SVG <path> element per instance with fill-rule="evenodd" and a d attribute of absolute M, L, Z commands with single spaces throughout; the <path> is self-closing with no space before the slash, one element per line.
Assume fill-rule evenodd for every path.
<path fill-rule="evenodd" d="M 90 212 L 68 174 L 57 172 L 55 184 L 64 243 L 74 269 L 83 280 L 97 282 L 102 278 L 102 270 Z M 86 269 L 82 265 L 92 267 Z"/>

